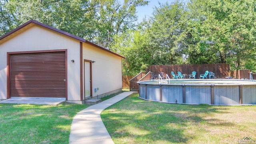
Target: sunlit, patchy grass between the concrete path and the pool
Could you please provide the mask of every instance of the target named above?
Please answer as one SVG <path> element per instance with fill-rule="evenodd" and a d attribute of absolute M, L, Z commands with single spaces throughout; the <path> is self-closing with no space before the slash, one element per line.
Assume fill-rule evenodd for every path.
<path fill-rule="evenodd" d="M 256 106 L 150 102 L 133 94 L 101 114 L 115 144 L 218 144 L 256 140 Z"/>

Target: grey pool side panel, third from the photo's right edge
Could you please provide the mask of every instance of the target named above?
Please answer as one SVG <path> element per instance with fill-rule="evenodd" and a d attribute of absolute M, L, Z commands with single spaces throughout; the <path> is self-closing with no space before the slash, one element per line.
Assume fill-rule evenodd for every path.
<path fill-rule="evenodd" d="M 210 86 L 186 86 L 187 104 L 211 104 Z"/>

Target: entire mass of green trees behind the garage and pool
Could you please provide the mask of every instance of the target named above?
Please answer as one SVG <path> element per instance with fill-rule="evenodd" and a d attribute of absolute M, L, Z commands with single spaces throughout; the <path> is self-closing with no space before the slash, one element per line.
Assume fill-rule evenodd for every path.
<path fill-rule="evenodd" d="M 256 70 L 256 0 L 0 0 L 0 36 L 34 19 L 126 57 L 123 74 L 150 65 L 228 63 Z"/>

